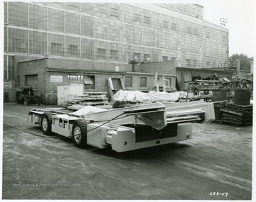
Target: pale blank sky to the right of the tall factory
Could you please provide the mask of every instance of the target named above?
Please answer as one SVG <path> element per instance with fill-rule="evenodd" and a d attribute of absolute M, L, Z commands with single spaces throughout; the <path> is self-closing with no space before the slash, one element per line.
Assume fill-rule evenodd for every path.
<path fill-rule="evenodd" d="M 227 19 L 229 30 L 229 56 L 243 53 L 255 55 L 255 0 L 198 1 L 203 6 L 205 21 L 220 25 L 220 18 Z"/>

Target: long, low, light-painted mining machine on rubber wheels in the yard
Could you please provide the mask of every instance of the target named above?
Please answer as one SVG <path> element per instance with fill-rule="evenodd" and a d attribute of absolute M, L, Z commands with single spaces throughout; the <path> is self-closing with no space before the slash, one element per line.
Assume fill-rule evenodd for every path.
<path fill-rule="evenodd" d="M 191 123 L 214 118 L 213 103 L 204 101 L 149 103 L 95 112 L 34 108 L 28 113 L 28 122 L 41 123 L 43 133 L 73 138 L 76 147 L 111 147 L 116 152 L 192 139 Z"/>

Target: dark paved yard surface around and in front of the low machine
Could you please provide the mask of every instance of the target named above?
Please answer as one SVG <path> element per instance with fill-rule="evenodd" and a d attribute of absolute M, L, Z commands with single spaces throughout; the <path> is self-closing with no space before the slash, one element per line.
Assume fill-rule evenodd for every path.
<path fill-rule="evenodd" d="M 193 140 L 125 153 L 41 138 L 4 103 L 3 199 L 250 200 L 252 127 L 193 124 Z M 46 135 L 43 135 L 47 137 Z"/>

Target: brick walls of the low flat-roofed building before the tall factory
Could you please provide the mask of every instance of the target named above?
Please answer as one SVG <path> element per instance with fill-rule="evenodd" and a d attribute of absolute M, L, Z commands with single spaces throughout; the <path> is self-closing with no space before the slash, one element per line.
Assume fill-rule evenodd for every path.
<path fill-rule="evenodd" d="M 36 91 L 36 94 L 40 96 L 41 103 L 45 104 L 57 103 L 57 86 L 58 84 L 68 84 L 68 75 L 70 74 L 94 76 L 95 89 L 90 89 L 88 91 L 107 92 L 107 97 L 109 99 L 110 92 L 107 85 L 108 78 L 124 79 L 125 82 L 125 77 L 132 77 L 132 88 L 129 88 L 129 90 L 140 91 L 151 89 L 154 82 L 154 71 L 152 71 L 153 73 L 129 72 L 124 70 L 131 70 L 132 64 L 119 64 L 119 72 L 115 72 L 114 67 L 114 63 L 85 62 L 83 60 L 62 60 L 53 58 L 20 62 L 18 64 L 18 85 L 26 85 L 26 75 L 38 74 L 38 91 Z M 159 67 L 161 68 L 164 66 L 160 65 Z M 60 82 L 51 81 L 51 76 L 58 76 L 61 78 Z M 140 86 L 141 77 L 146 77 L 146 88 L 141 88 Z M 164 74 L 164 77 L 172 78 L 172 81 L 174 81 L 173 74 L 167 73 Z M 159 74 L 159 78 L 161 80 L 162 74 Z M 174 82 L 171 86 L 175 87 Z"/>

